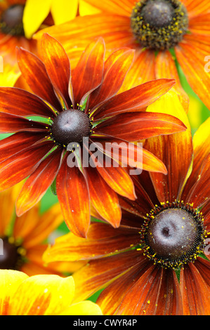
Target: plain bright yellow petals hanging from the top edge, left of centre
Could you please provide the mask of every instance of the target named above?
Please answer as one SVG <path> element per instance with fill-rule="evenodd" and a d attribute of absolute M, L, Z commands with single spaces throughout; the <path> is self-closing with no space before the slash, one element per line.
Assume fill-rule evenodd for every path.
<path fill-rule="evenodd" d="M 78 0 L 27 0 L 22 20 L 25 37 L 32 37 L 48 13 L 51 12 L 55 25 L 58 25 L 75 18 L 77 8 Z"/>

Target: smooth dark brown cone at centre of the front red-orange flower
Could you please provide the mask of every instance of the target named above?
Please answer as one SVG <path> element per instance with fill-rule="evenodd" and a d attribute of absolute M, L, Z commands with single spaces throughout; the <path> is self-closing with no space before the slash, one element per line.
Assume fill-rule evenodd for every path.
<path fill-rule="evenodd" d="M 91 121 L 81 110 L 65 110 L 53 120 L 51 135 L 56 143 L 81 143 L 91 132 Z"/>

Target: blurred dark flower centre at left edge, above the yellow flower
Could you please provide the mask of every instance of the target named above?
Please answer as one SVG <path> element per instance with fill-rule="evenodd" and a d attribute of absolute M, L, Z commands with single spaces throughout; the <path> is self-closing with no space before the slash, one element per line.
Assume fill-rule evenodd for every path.
<path fill-rule="evenodd" d="M 3 251 L 1 251 L 0 254 L 0 269 L 17 270 L 18 261 L 20 260 L 20 253 L 18 253 L 18 247 L 15 246 L 15 244 L 9 243 L 7 237 L 2 240 Z"/>

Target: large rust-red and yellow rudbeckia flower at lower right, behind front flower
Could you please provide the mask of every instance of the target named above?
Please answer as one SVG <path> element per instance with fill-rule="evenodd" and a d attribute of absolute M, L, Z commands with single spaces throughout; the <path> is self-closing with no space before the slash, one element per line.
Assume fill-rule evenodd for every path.
<path fill-rule="evenodd" d="M 93 222 L 87 239 L 68 233 L 46 250 L 48 263 L 88 260 L 74 273 L 75 301 L 105 288 L 104 315 L 209 315 L 209 123 L 193 140 L 189 130 L 146 141 L 168 176 L 133 176 L 138 198 L 120 198 L 119 228 Z"/>

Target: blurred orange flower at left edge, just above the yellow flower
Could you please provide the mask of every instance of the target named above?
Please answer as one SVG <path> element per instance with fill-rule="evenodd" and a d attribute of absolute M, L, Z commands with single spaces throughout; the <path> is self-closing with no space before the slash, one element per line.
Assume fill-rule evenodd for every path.
<path fill-rule="evenodd" d="M 60 205 L 51 206 L 40 213 L 37 204 L 23 216 L 14 217 L 15 199 L 21 184 L 0 193 L 0 270 L 21 270 L 27 275 L 70 274 L 84 263 L 54 263 L 46 267 L 42 254 L 48 246 L 48 239 L 63 222 Z"/>

